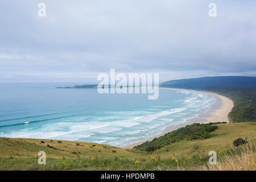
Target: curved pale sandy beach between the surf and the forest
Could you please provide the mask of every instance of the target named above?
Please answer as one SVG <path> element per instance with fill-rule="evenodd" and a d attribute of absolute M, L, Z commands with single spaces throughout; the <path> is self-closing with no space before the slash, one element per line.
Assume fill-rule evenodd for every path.
<path fill-rule="evenodd" d="M 169 133 L 171 131 L 177 130 L 180 127 L 185 127 L 187 125 L 191 125 L 193 123 L 215 123 L 215 122 L 230 122 L 228 118 L 228 114 L 232 110 L 234 104 L 233 101 L 230 100 L 228 97 L 221 96 L 220 94 L 214 93 L 214 92 L 208 92 L 208 91 L 200 91 L 200 90 L 192 90 L 192 89 L 179 89 L 179 88 L 163 88 L 161 89 L 171 89 L 171 90 L 189 90 L 193 92 L 202 92 L 207 93 L 215 96 L 217 98 L 217 101 L 210 106 L 210 109 L 207 111 L 206 114 L 200 114 L 195 118 L 188 119 L 187 121 L 183 123 L 178 123 L 176 125 L 167 126 L 162 133 L 155 135 L 153 137 L 148 138 L 147 140 L 143 140 L 141 142 L 132 143 L 126 146 L 123 146 L 121 148 L 133 148 L 134 146 L 137 146 L 138 144 L 142 144 L 144 142 L 150 141 L 156 137 L 161 137 L 166 133 Z"/>

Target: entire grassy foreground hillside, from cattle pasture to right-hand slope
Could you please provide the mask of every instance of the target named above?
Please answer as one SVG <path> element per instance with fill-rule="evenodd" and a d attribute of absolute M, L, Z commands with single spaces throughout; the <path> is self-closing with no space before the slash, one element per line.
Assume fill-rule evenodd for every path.
<path fill-rule="evenodd" d="M 210 150 L 216 152 L 228 150 L 232 147 L 234 139 L 242 137 L 256 141 L 255 131 L 255 122 L 219 124 L 218 130 L 214 131 L 217 135 L 216 137 L 203 141 L 176 142 L 152 153 L 124 150 L 123 148 L 112 146 L 103 148 L 104 145 L 102 144 L 96 144 L 96 147 L 90 148 L 93 144 L 85 142 L 79 142 L 83 146 L 76 146 L 76 142 L 71 141 L 62 141 L 60 144 L 57 143 L 57 140 L 51 142 L 51 140 L 47 139 L 0 138 L 0 169 L 166 170 L 177 169 L 178 167 L 193 169 L 200 166 L 200 164 L 206 163 Z M 40 141 L 42 140 L 46 143 L 41 144 Z M 56 147 L 58 150 L 47 148 L 47 144 Z M 195 145 L 199 146 L 197 150 L 193 149 Z M 166 151 L 166 148 L 169 151 Z M 37 154 L 41 150 L 46 151 L 46 165 L 37 163 Z M 117 152 L 113 153 L 112 150 Z M 77 152 L 77 155 L 72 154 L 74 151 Z M 173 158 L 174 155 L 175 158 Z M 136 160 L 139 163 L 135 163 Z"/>

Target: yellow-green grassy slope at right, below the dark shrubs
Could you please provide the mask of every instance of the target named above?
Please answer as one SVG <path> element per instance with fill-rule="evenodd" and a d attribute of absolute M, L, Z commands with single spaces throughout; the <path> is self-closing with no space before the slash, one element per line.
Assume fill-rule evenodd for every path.
<path fill-rule="evenodd" d="M 163 148 L 156 151 L 155 153 L 162 157 L 170 157 L 175 155 L 194 155 L 194 154 L 208 154 L 210 150 L 220 151 L 227 150 L 232 147 L 232 143 L 237 138 L 248 138 L 251 141 L 256 141 L 256 123 L 227 123 L 219 124 L 218 130 L 214 131 L 216 137 L 212 137 L 205 140 L 192 140 L 183 141 L 170 144 L 164 148 L 168 148 L 166 152 Z M 197 150 L 193 149 L 193 146 L 198 145 Z"/>

